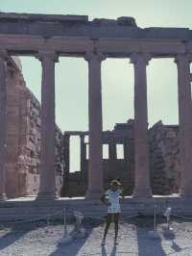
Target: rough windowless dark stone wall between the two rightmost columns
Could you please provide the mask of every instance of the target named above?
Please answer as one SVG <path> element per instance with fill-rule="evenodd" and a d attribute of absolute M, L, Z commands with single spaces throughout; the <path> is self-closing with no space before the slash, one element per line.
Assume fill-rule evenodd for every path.
<path fill-rule="evenodd" d="M 157 122 L 149 130 L 150 168 L 155 194 L 179 192 L 179 126 Z"/>

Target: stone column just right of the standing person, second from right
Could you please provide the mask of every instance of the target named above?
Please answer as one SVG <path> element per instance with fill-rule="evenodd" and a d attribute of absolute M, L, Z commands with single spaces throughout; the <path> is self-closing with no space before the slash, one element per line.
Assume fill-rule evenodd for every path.
<path fill-rule="evenodd" d="M 150 185 L 146 65 L 150 58 L 132 54 L 134 65 L 134 191 L 133 197 L 152 196 Z"/>

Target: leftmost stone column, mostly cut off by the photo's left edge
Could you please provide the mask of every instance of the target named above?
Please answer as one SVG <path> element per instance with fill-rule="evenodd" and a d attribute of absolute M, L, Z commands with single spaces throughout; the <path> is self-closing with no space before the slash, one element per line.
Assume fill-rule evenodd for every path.
<path fill-rule="evenodd" d="M 0 50 L 0 201 L 6 199 L 6 51 Z"/>

